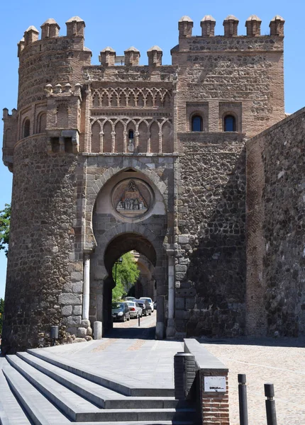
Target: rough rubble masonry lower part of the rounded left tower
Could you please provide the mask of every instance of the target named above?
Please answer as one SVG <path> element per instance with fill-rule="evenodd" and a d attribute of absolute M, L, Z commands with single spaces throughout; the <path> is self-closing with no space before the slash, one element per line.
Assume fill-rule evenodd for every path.
<path fill-rule="evenodd" d="M 60 326 L 65 341 L 66 328 L 82 322 L 82 251 L 74 229 L 77 158 L 48 154 L 41 135 L 20 142 L 14 155 L 6 353 L 50 343 L 52 325 Z"/>

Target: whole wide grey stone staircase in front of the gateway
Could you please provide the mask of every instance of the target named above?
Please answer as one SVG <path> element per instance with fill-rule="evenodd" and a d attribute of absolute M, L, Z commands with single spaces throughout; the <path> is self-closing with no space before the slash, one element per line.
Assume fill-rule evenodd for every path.
<path fill-rule="evenodd" d="M 1 425 L 195 425 L 174 388 L 137 387 L 40 349 L 0 358 Z"/>

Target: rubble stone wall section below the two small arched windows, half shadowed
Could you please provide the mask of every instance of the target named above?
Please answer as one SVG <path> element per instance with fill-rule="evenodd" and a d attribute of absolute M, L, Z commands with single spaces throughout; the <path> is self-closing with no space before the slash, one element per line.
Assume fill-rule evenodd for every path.
<path fill-rule="evenodd" d="M 179 133 L 176 330 L 245 331 L 245 151 L 243 135 Z"/>

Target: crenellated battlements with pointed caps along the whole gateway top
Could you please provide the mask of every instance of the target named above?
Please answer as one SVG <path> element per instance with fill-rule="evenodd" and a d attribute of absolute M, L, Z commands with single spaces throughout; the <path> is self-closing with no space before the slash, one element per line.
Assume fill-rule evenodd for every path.
<path fill-rule="evenodd" d="M 245 21 L 246 34 L 238 35 L 239 20 L 233 15 L 228 15 L 223 21 L 223 35 L 215 35 L 216 20 L 211 15 L 206 15 L 200 21 L 201 35 L 192 35 L 194 21 L 189 16 L 182 16 L 178 22 L 179 30 L 179 50 L 196 50 L 192 49 L 192 45 L 199 44 L 199 50 L 278 50 L 282 48 L 282 37 L 284 37 L 284 19 L 276 15 L 270 21 L 270 34 L 261 35 L 261 19 L 256 15 L 251 15 Z M 79 16 L 73 16 L 66 22 L 67 33 L 60 36 L 60 26 L 53 18 L 49 18 L 43 23 L 41 28 L 41 39 L 39 39 L 39 31 L 35 26 L 30 26 L 24 33 L 23 38 L 18 42 L 18 57 L 26 60 L 28 55 L 38 54 L 48 50 L 84 50 L 90 52 L 84 47 L 84 28 L 85 23 Z M 211 39 L 217 38 L 217 42 Z M 243 42 L 234 42 L 240 40 Z M 253 38 L 263 38 L 264 41 L 255 42 L 253 47 Z M 268 45 L 270 38 L 275 38 L 275 42 Z M 280 38 L 280 39 L 279 39 Z M 223 43 L 220 40 L 231 39 L 231 42 Z M 192 40 L 192 41 L 191 41 Z M 200 42 L 201 40 L 201 42 Z M 206 41 L 204 41 L 206 40 Z M 210 40 L 210 41 L 208 41 Z M 248 41 L 247 41 L 248 40 Z M 265 43 L 265 44 L 264 44 Z M 205 49 L 204 45 L 208 45 Z M 221 46 L 219 46 L 221 45 Z M 227 47 L 224 47 L 224 46 Z M 177 51 L 177 47 L 174 47 Z M 28 55 L 25 53 L 28 52 Z M 162 65 L 162 50 L 158 46 L 151 47 L 148 52 L 148 66 Z M 138 66 L 140 60 L 140 52 L 135 47 L 129 47 L 124 51 L 123 56 L 117 56 L 116 51 L 111 47 L 101 50 L 99 61 L 105 67 L 118 64 L 126 67 Z"/>

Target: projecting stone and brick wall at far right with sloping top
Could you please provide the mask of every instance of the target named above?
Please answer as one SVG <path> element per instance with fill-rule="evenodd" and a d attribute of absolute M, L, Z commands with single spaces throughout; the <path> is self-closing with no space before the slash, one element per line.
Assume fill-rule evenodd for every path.
<path fill-rule="evenodd" d="M 301 109 L 247 143 L 249 332 L 250 317 L 267 335 L 305 332 L 304 118 Z"/>

